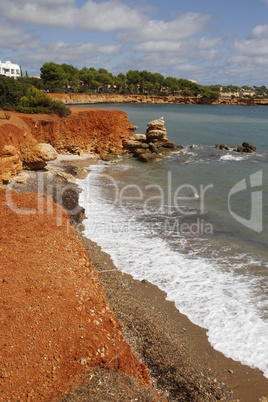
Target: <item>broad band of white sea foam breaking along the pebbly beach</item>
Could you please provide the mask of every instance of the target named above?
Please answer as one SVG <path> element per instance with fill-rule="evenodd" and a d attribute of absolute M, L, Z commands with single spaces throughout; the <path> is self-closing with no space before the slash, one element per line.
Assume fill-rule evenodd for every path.
<path fill-rule="evenodd" d="M 208 329 L 211 345 L 227 357 L 259 368 L 268 377 L 268 323 L 259 317 L 254 279 L 237 275 L 240 261 L 224 270 L 216 260 L 183 255 L 150 232 L 135 213 L 122 214 L 101 196 L 102 166 L 78 182 L 86 210 L 84 234 L 135 279 L 147 279 L 167 293 L 180 312 Z"/>

